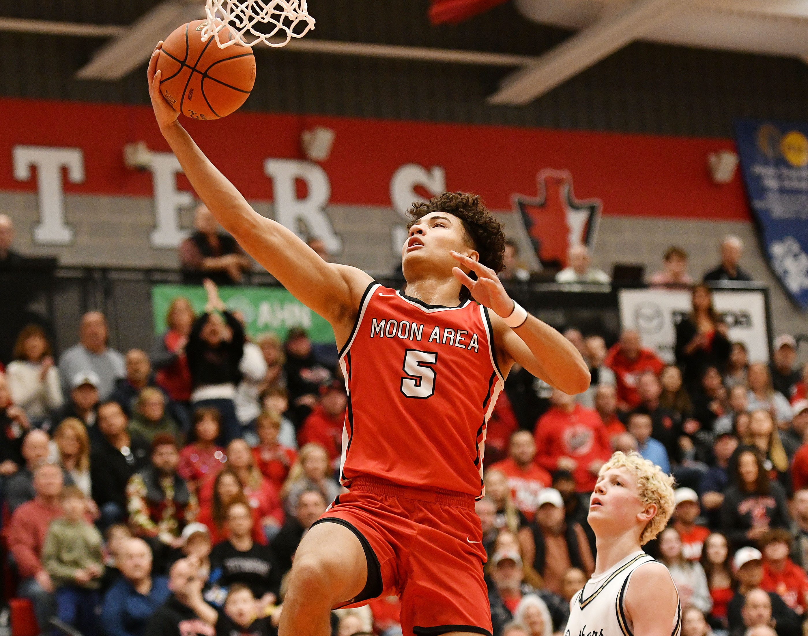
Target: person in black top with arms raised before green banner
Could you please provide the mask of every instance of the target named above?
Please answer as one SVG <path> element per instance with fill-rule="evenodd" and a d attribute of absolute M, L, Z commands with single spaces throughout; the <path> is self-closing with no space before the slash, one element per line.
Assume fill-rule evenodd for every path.
<path fill-rule="evenodd" d="M 213 281 L 206 278 L 204 287 L 208 304 L 204 314 L 194 321 L 185 346 L 193 386 L 191 405 L 194 409 L 218 409 L 222 426 L 217 443 L 225 446 L 242 434 L 233 397 L 242 379 L 238 365 L 244 354 L 245 336 L 242 324 L 227 311 Z M 212 313 L 214 310 L 221 316 Z"/>

